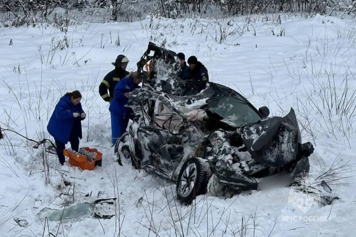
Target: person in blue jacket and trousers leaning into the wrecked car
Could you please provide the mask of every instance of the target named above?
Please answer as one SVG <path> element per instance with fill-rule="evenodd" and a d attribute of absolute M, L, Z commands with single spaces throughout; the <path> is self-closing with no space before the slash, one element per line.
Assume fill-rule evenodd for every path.
<path fill-rule="evenodd" d="M 130 97 L 130 92 L 136 88 L 140 88 L 138 84 L 141 82 L 142 79 L 137 72 L 130 72 L 125 78 L 117 82 L 115 86 L 114 98 L 109 106 L 112 145 L 115 145 L 116 140 L 126 131 L 129 118 L 132 116 L 132 109 L 125 107 L 125 104 Z"/>

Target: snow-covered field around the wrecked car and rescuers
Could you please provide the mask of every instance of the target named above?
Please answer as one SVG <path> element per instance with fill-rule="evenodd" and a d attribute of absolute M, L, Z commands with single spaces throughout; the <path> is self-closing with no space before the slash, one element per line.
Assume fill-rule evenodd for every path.
<path fill-rule="evenodd" d="M 196 55 L 211 81 L 234 88 L 257 108 L 268 106 L 271 115 L 286 115 L 293 107 L 303 142 L 315 146 L 310 157 L 314 180 L 335 159 L 340 161 L 337 167 L 354 163 L 354 20 L 320 15 L 148 17 L 69 26 L 66 34 L 51 26 L 0 28 L 1 128 L 35 140 L 53 139 L 46 130 L 53 108 L 65 92 L 77 89 L 87 113 L 80 146 L 103 153 L 103 166 L 94 171 L 58 166 L 54 155 L 47 157 L 47 168 L 41 147 L 32 149 L 33 142 L 5 131 L 0 140 L 0 236 L 354 236 L 354 177 L 329 182 L 340 198 L 333 205 L 313 205 L 303 213 L 289 205 L 289 187 L 226 200 L 201 195 L 192 206 L 184 206 L 173 199 L 174 183 L 139 172 L 127 161 L 119 166 L 110 144 L 108 103 L 100 98 L 98 86 L 118 54 L 125 54 L 128 69 L 136 70 L 150 40 L 184 52 L 186 58 Z M 351 172 L 337 177 L 352 176 L 355 166 L 346 168 Z M 49 221 L 48 230 L 37 216 L 42 208 L 92 202 L 99 191 L 102 198 L 119 195 L 117 219 Z M 14 217 L 28 225 L 17 225 Z"/>

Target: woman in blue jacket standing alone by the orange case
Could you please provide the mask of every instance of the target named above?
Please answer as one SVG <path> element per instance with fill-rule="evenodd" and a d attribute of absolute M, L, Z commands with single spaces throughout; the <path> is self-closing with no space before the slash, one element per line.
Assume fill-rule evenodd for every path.
<path fill-rule="evenodd" d="M 59 99 L 47 125 L 47 131 L 56 142 L 59 163 L 64 165 L 63 150 L 67 142 L 73 150 L 79 150 L 79 138 L 82 139 L 82 123 L 85 113 L 80 104 L 82 95 L 79 91 L 67 92 Z"/>

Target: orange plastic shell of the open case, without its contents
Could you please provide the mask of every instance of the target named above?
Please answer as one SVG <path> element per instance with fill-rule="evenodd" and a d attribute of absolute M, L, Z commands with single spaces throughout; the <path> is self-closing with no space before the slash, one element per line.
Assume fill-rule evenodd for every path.
<path fill-rule="evenodd" d="M 94 166 L 101 166 L 101 159 L 103 158 L 103 153 L 100 153 L 96 149 L 91 149 L 89 147 L 83 147 L 84 150 L 88 152 L 96 153 L 96 158 L 92 161 L 87 161 L 86 155 L 77 155 L 74 152 L 70 152 L 67 149 L 64 149 L 63 155 L 69 157 L 69 164 L 72 166 L 78 166 L 82 169 L 93 170 Z"/>

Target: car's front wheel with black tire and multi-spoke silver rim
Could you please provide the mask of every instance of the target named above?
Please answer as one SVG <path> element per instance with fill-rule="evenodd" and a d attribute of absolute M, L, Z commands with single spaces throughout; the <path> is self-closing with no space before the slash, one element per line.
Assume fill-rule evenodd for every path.
<path fill-rule="evenodd" d="M 179 172 L 177 180 L 177 197 L 184 204 L 191 204 L 201 187 L 205 184 L 206 166 L 200 158 L 190 158 L 187 160 Z"/>

